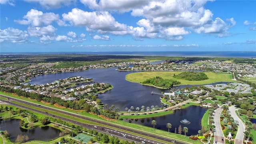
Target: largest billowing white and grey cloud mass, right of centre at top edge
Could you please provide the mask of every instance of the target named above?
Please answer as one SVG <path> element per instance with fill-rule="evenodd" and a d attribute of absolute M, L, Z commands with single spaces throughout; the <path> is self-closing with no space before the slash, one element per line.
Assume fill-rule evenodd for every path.
<path fill-rule="evenodd" d="M 162 32 L 159 36 L 161 38 L 165 38 L 168 34 L 190 34 L 185 29 L 197 33 L 219 34 L 219 37 L 226 36 L 227 30 L 235 26 L 236 21 L 234 18 L 226 19 L 230 22 L 228 25 L 221 18 L 213 20 L 212 12 L 204 8 L 206 2 L 201 0 L 156 0 L 150 1 L 140 8 L 133 8 L 131 14 L 145 17 L 139 20 L 137 24 L 146 28 L 148 32 Z M 168 32 L 168 29 L 171 31 Z M 179 36 L 179 38 L 181 37 Z"/>

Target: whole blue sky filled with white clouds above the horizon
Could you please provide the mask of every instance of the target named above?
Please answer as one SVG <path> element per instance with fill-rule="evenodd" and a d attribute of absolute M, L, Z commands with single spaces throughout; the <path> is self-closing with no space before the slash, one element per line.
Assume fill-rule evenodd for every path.
<path fill-rule="evenodd" d="M 0 0 L 0 52 L 256 51 L 255 0 Z"/>

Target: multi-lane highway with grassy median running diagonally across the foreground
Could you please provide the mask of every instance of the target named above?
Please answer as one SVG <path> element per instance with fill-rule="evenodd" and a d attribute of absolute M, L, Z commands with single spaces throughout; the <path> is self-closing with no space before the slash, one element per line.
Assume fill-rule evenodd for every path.
<path fill-rule="evenodd" d="M 10 103 L 14 106 L 22 106 L 22 105 L 19 105 L 19 104 L 14 104 L 12 102 L 9 102 L 10 100 L 15 100 L 15 101 L 18 101 L 20 103 L 24 103 L 24 104 L 28 104 L 30 106 L 36 106 L 36 107 L 39 107 L 38 104 L 35 104 L 35 103 L 32 103 L 32 102 L 27 102 L 27 101 L 24 101 L 24 100 L 20 100 L 20 99 L 16 99 L 16 98 L 12 98 L 12 97 L 8 97 L 8 96 L 4 96 L 4 95 L 0 95 L 2 97 L 6 97 L 6 98 L 9 98 L 8 101 L 6 100 L 2 100 L 4 102 L 7 102 L 7 103 Z M 92 129 L 92 130 L 97 130 L 98 132 L 103 132 L 103 133 L 107 133 L 107 134 L 110 134 L 112 136 L 116 136 L 118 138 L 122 138 L 124 140 L 128 140 L 128 141 L 134 141 L 136 143 L 141 143 L 142 141 L 146 142 L 147 144 L 170 144 L 172 143 L 172 140 L 173 139 L 169 139 L 167 137 L 164 137 L 164 136 L 159 136 L 159 135 L 156 135 L 156 134 L 152 134 L 152 133 L 149 133 L 149 132 L 144 132 L 144 131 L 141 131 L 141 130 L 136 130 L 136 129 L 132 129 L 132 128 L 127 128 L 127 127 L 124 127 L 124 126 L 121 126 L 121 125 L 117 125 L 117 124 L 112 124 L 110 122 L 105 122 L 103 120 L 96 120 L 96 119 L 92 119 L 92 118 L 88 118 L 88 117 L 85 117 L 85 116 L 82 116 L 82 115 L 78 115 L 78 114 L 74 114 L 74 113 L 70 113 L 70 112 L 66 112 L 64 110 L 59 110 L 59 109 L 55 109 L 55 108 L 50 108 L 48 106 L 41 106 L 41 108 L 44 108 L 46 110 L 53 110 L 55 112 L 59 112 L 59 113 L 62 113 L 62 114 L 66 114 L 66 115 L 70 115 L 72 114 L 73 118 L 72 120 L 70 119 L 67 119 L 65 118 L 64 116 L 63 117 L 60 117 L 60 116 L 54 116 L 52 114 L 47 114 L 45 112 L 42 112 L 40 110 L 36 110 L 36 109 L 32 109 L 32 108 L 28 108 L 28 107 L 25 107 L 26 109 L 28 110 L 33 110 L 35 112 L 39 112 L 39 113 L 44 113 L 44 114 L 47 114 L 49 116 L 54 116 L 56 118 L 60 118 L 62 120 L 65 120 L 65 121 L 68 121 L 68 122 L 71 122 L 71 123 L 74 123 L 74 124 L 77 124 L 79 126 L 82 126 L 84 128 L 87 128 L 87 129 Z M 98 124 L 101 124 L 101 125 L 104 125 L 104 126 L 97 126 L 94 127 L 94 125 L 90 125 L 90 124 L 84 124 L 84 123 L 81 123 L 81 122 L 77 122 L 75 121 L 76 118 L 82 118 L 84 120 L 89 120 L 89 121 L 92 121 L 92 122 L 96 122 Z M 110 128 L 111 127 L 111 128 Z M 120 130 L 123 130 L 120 131 L 120 130 L 115 130 L 114 128 L 117 128 L 117 129 L 120 129 Z M 126 133 L 127 132 L 127 133 Z M 131 132 L 132 134 L 129 134 L 128 132 Z M 126 138 L 123 137 L 123 134 L 126 134 Z M 150 137 L 150 138 L 154 138 L 156 140 L 161 140 L 161 141 L 164 141 L 164 142 L 158 142 L 156 140 L 150 140 L 148 138 L 144 138 L 142 136 L 147 136 L 147 137 Z M 175 142 L 176 144 L 186 144 L 187 142 L 178 142 L 176 140 Z"/>

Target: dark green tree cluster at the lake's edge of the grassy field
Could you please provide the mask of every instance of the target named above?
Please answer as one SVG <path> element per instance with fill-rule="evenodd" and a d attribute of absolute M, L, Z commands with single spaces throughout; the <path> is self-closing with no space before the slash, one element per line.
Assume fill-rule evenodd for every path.
<path fill-rule="evenodd" d="M 156 76 L 155 78 L 145 80 L 142 82 L 142 84 L 152 84 L 153 86 L 160 88 L 171 88 L 175 84 L 180 84 L 180 82 L 176 80 L 163 79 L 160 76 Z"/>

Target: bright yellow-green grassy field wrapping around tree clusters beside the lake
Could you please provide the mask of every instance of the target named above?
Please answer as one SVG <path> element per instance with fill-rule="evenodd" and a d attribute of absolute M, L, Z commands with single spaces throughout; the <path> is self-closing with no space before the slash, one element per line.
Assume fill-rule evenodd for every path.
<path fill-rule="evenodd" d="M 208 80 L 200 80 L 200 81 L 189 81 L 182 80 L 178 78 L 174 78 L 173 75 L 178 75 L 182 73 L 182 71 L 172 71 L 172 72 L 136 72 L 126 75 L 126 80 L 130 82 L 143 82 L 146 79 L 154 78 L 156 76 L 160 76 L 163 79 L 169 80 L 177 80 L 181 82 L 180 85 L 188 85 L 188 84 L 211 84 L 214 82 L 236 82 L 232 80 L 231 74 L 216 74 L 213 72 L 204 72 L 208 76 Z"/>

